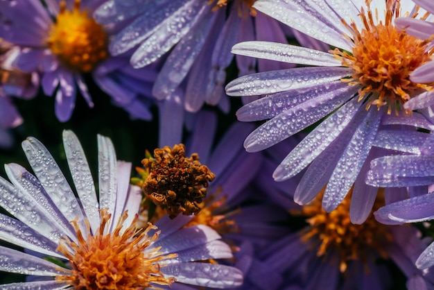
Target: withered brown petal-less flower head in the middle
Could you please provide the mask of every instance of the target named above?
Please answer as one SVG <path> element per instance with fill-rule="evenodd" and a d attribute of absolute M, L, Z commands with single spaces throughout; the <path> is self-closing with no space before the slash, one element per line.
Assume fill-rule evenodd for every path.
<path fill-rule="evenodd" d="M 208 167 L 200 164 L 193 153 L 186 157 L 183 144 L 173 148 L 165 146 L 154 151 L 154 158 L 141 161 L 149 175 L 142 185 L 146 198 L 161 206 L 171 218 L 178 214 L 197 214 L 198 203 L 207 194 L 208 182 L 215 176 Z"/>

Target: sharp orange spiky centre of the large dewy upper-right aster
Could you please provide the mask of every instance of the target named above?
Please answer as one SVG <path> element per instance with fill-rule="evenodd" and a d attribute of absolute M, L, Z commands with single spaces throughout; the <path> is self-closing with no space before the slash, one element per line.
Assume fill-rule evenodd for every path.
<path fill-rule="evenodd" d="M 428 41 L 408 35 L 393 25 L 393 13 L 399 17 L 399 1 L 388 1 L 384 23 L 378 21 L 376 11 L 379 24 L 374 24 L 369 3 L 367 1 L 367 15 L 363 10 L 360 15 L 364 24 L 361 31 L 354 22 L 348 25 L 342 19 L 349 31 L 353 31 L 351 53 L 338 49 L 332 53 L 342 61 L 342 65 L 354 69 L 351 78 L 342 81 L 363 85 L 358 92 L 359 101 L 366 101 L 367 109 L 371 105 L 376 105 L 377 109 L 387 105 L 388 114 L 392 110 L 399 114 L 403 103 L 415 93 L 433 89 L 433 84 L 413 83 L 409 78 L 417 67 L 431 60 L 433 51 L 428 51 Z"/>

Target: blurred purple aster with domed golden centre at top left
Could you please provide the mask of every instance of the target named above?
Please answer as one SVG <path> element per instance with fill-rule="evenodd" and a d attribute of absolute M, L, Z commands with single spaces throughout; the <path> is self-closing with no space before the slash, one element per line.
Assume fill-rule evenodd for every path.
<path fill-rule="evenodd" d="M 88 73 L 132 117 L 151 119 L 148 107 L 153 99 L 147 94 L 155 72 L 152 67 L 128 69 L 129 56 L 110 56 L 108 39 L 117 28 L 92 18 L 101 2 L 0 1 L 0 37 L 21 48 L 12 65 L 41 74 L 44 94 L 55 94 L 55 115 L 60 121 L 70 119 L 77 92 L 93 107 L 84 78 Z"/>

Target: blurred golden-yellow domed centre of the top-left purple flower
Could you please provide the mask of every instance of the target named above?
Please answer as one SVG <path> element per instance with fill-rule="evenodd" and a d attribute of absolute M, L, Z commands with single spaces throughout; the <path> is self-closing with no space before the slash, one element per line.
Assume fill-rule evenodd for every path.
<path fill-rule="evenodd" d="M 103 26 L 89 18 L 87 10 L 80 11 L 80 0 L 75 0 L 72 11 L 65 1 L 49 31 L 47 44 L 64 65 L 80 72 L 89 72 L 107 58 L 107 34 Z"/>

